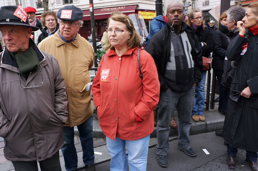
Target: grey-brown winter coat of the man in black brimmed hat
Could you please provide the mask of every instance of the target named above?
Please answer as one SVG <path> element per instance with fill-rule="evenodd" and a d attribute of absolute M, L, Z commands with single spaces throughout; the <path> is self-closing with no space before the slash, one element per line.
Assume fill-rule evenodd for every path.
<path fill-rule="evenodd" d="M 64 78 L 55 57 L 33 44 L 42 70 L 43 86 L 22 88 L 19 73 L 7 48 L 0 53 L 0 137 L 5 158 L 11 161 L 42 161 L 64 145 L 67 120 Z M 42 85 L 41 73 L 30 73 L 23 87 Z"/>

